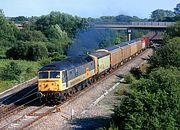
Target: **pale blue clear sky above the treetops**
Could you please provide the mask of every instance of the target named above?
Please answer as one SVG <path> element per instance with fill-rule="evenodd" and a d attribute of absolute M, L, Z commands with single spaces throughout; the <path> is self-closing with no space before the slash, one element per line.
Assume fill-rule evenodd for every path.
<path fill-rule="evenodd" d="M 149 18 L 156 9 L 172 10 L 179 0 L 2 0 L 5 16 L 41 16 L 60 11 L 80 17 L 117 16 Z"/>

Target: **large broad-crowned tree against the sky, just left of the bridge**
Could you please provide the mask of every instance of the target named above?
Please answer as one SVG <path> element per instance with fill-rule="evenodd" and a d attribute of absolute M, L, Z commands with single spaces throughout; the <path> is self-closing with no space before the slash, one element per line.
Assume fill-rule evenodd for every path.
<path fill-rule="evenodd" d="M 47 29 L 52 25 L 58 25 L 61 30 L 67 32 L 68 37 L 73 37 L 75 33 L 87 26 L 88 21 L 85 18 L 73 17 L 72 15 L 61 13 L 61 12 L 51 12 L 49 15 L 41 16 L 35 22 L 37 30 L 42 31 L 46 36 L 48 36 Z"/>

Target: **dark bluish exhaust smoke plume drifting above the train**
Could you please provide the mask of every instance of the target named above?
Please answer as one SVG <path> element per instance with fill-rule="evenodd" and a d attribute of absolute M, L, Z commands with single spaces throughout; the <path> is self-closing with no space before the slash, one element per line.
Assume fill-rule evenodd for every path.
<path fill-rule="evenodd" d="M 105 29 L 88 29 L 76 34 L 75 40 L 68 48 L 68 57 L 84 56 L 99 48 L 114 44 L 117 31 Z"/>

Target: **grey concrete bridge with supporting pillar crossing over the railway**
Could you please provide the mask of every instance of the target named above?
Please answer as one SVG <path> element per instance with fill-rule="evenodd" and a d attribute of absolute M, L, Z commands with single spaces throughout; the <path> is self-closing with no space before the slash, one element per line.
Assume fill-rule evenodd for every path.
<path fill-rule="evenodd" d="M 96 29 L 126 29 L 128 40 L 131 40 L 131 32 L 133 29 L 164 31 L 167 27 L 174 24 L 175 22 L 104 22 L 96 23 L 94 27 Z"/>

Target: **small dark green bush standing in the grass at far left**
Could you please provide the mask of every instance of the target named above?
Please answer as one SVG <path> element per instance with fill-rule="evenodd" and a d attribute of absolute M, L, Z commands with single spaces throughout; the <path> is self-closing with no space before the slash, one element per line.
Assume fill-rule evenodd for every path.
<path fill-rule="evenodd" d="M 2 69 L 0 76 L 2 80 L 18 80 L 21 73 L 20 66 L 12 61 Z"/>

